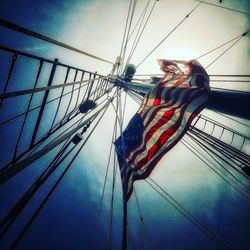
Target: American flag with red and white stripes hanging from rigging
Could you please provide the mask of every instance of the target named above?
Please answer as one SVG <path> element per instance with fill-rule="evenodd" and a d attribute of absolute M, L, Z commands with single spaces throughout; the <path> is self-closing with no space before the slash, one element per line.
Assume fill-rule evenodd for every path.
<path fill-rule="evenodd" d="M 209 77 L 197 61 L 158 61 L 165 75 L 145 95 L 115 141 L 126 200 L 133 191 L 133 182 L 150 175 L 183 137 L 209 96 Z"/>

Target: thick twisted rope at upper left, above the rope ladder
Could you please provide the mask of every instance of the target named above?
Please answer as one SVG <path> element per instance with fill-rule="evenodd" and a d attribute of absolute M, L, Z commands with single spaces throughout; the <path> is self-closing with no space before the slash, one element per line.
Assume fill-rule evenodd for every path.
<path fill-rule="evenodd" d="M 74 47 L 72 47 L 72 46 L 70 46 L 68 44 L 62 43 L 62 42 L 57 41 L 57 40 L 55 40 L 55 39 L 53 39 L 51 37 L 45 36 L 45 35 L 43 35 L 41 33 L 37 33 L 37 32 L 32 31 L 30 29 L 24 28 L 24 27 L 22 27 L 20 25 L 17 25 L 15 23 L 9 22 L 9 21 L 4 20 L 2 18 L 0 18 L 0 25 L 3 26 L 3 27 L 5 27 L 5 28 L 11 29 L 11 30 L 15 30 L 15 31 L 20 32 L 20 33 L 23 33 L 25 35 L 32 36 L 32 37 L 35 37 L 37 39 L 43 40 L 45 42 L 49 42 L 49 43 L 57 45 L 59 47 L 62 47 L 62 48 L 65 48 L 65 49 L 68 49 L 68 50 L 80 53 L 82 55 L 85 55 L 85 56 L 88 56 L 88 57 L 91 57 L 91 58 L 94 58 L 96 60 L 99 60 L 99 61 L 102 61 L 102 62 L 106 62 L 106 63 L 112 64 L 112 65 L 114 64 L 111 61 L 108 61 L 108 60 L 105 60 L 105 59 L 100 58 L 98 56 L 89 54 L 89 53 L 87 53 L 87 52 L 85 52 L 83 50 L 74 48 Z"/>

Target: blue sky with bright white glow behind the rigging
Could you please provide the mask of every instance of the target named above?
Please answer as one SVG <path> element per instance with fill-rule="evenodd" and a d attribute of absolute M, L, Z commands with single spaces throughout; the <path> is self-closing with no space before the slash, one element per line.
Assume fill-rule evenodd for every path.
<path fill-rule="evenodd" d="M 137 20 L 147 1 L 139 0 L 137 2 L 134 20 Z M 222 1 L 222 3 L 211 0 L 209 2 L 241 11 L 250 9 L 247 0 L 228 0 Z M 1 3 L 0 17 L 114 62 L 121 48 L 128 4 L 129 1 L 125 0 L 107 0 L 105 2 L 102 0 L 36 2 L 4 0 Z M 152 5 L 153 1 L 150 4 Z M 158 1 L 131 63 L 138 65 L 146 54 L 196 5 L 197 1 L 193 0 Z M 249 24 L 249 15 L 203 3 L 138 67 L 136 74 L 161 73 L 157 64 L 159 58 L 185 60 L 197 58 L 244 33 L 249 29 Z M 2 45 L 51 60 L 58 58 L 60 62 L 93 72 L 98 71 L 102 74 L 108 74 L 112 67 L 112 65 L 69 52 L 37 39 L 27 38 L 25 35 L 17 34 L 3 27 L 0 27 L 0 34 Z M 227 46 L 203 57 L 200 60 L 202 65 L 210 64 Z M 0 74 L 2 90 L 9 58 L 1 53 L 0 59 L 3 69 L 3 73 Z M 211 65 L 207 72 L 208 74 L 249 75 L 249 65 L 250 42 L 249 35 L 247 35 Z M 12 79 L 9 90 L 31 86 L 32 79 L 34 79 L 31 67 L 28 65 L 25 68 L 25 62 L 23 62 L 22 72 L 16 72 L 18 77 Z M 46 80 L 45 76 L 43 80 Z M 60 81 L 60 76 L 58 81 Z M 21 84 L 16 86 L 16 82 Z M 239 87 L 239 85 L 231 84 L 226 87 L 250 90 L 246 85 Z M 25 99 L 10 102 L 9 106 L 5 105 L 2 109 L 1 119 L 8 117 L 13 112 L 19 112 L 26 105 L 27 100 Z M 138 106 L 130 99 L 126 107 L 124 127 L 137 109 Z M 211 118 L 222 119 L 213 112 L 205 111 L 204 113 Z M 73 168 L 46 203 L 17 249 L 94 249 L 95 244 L 97 249 L 108 248 L 107 217 L 112 183 L 111 171 L 108 176 L 108 191 L 105 193 L 96 240 L 93 235 L 114 119 L 115 114 L 112 109 L 109 109 L 84 151 L 74 162 Z M 245 126 L 240 126 L 228 119 L 220 121 L 250 135 L 249 129 L 247 130 Z M 249 121 L 244 122 L 249 124 Z M 11 150 L 9 138 L 15 137 L 17 126 L 18 124 L 14 124 L 12 128 L 4 127 L 0 133 L 0 138 L 4 141 L 0 146 L 2 165 L 9 160 L 8 154 Z M 1 187 L 1 217 L 53 159 L 57 150 L 53 150 L 46 157 L 36 161 L 28 170 Z M 15 235 L 67 162 L 69 159 L 60 166 L 52 179 L 44 185 L 21 214 L 15 225 L 10 228 L 0 243 L 1 249 L 9 248 Z M 179 143 L 161 160 L 151 178 L 164 187 L 194 216 L 203 221 L 232 249 L 249 249 L 249 203 L 182 144 Z M 249 183 L 247 184 L 249 185 Z M 217 249 L 216 245 L 157 195 L 145 181 L 137 181 L 135 189 L 145 224 L 156 249 Z M 116 181 L 115 197 L 112 248 L 119 249 L 122 226 L 119 178 Z M 151 249 L 149 238 L 143 234 L 138 215 L 135 197 L 132 196 L 128 203 L 129 249 L 133 249 L 134 244 L 138 249 Z"/>

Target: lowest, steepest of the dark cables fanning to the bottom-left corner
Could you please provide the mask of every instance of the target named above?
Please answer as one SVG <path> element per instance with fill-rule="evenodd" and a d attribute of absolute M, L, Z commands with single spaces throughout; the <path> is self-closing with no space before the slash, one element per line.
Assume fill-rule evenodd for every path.
<path fill-rule="evenodd" d="M 110 102 L 108 103 L 110 104 Z M 40 211 L 42 210 L 42 208 L 44 207 L 44 205 L 46 204 L 46 202 L 48 201 L 48 199 L 51 197 L 51 195 L 53 194 L 53 192 L 55 191 L 55 189 L 57 188 L 58 184 L 61 182 L 61 180 L 63 179 L 63 177 L 66 175 L 66 173 L 68 172 L 68 170 L 70 169 L 72 163 L 75 161 L 76 157 L 79 155 L 79 153 L 81 152 L 83 146 L 87 143 L 88 139 L 90 138 L 90 136 L 92 135 L 92 133 L 94 132 L 95 128 L 97 127 L 97 125 L 100 123 L 101 119 L 103 118 L 104 114 L 106 113 L 107 109 L 108 109 L 109 105 L 107 105 L 103 111 L 103 113 L 101 114 L 101 116 L 99 117 L 98 121 L 96 122 L 96 124 L 94 125 L 94 127 L 92 128 L 91 132 L 88 134 L 88 136 L 86 137 L 85 141 L 82 143 L 82 145 L 80 146 L 80 148 L 77 150 L 77 152 L 75 153 L 75 155 L 73 156 L 73 158 L 71 159 L 71 161 L 69 162 L 69 164 L 67 165 L 67 167 L 65 168 L 65 170 L 63 171 L 63 173 L 60 175 L 60 177 L 58 178 L 58 180 L 55 182 L 55 184 L 53 185 L 53 187 L 50 189 L 50 191 L 48 192 L 48 194 L 46 195 L 46 197 L 43 199 L 42 203 L 39 205 L 39 207 L 36 209 L 36 211 L 32 214 L 31 218 L 29 219 L 29 221 L 25 224 L 23 230 L 18 234 L 17 238 L 15 239 L 14 243 L 11 245 L 10 249 L 14 250 L 16 249 L 17 245 L 20 243 L 20 241 L 23 239 L 23 237 L 25 236 L 26 232 L 28 231 L 28 229 L 30 228 L 30 226 L 33 224 L 34 220 L 36 219 L 36 217 L 38 216 L 38 214 L 40 213 Z"/>

